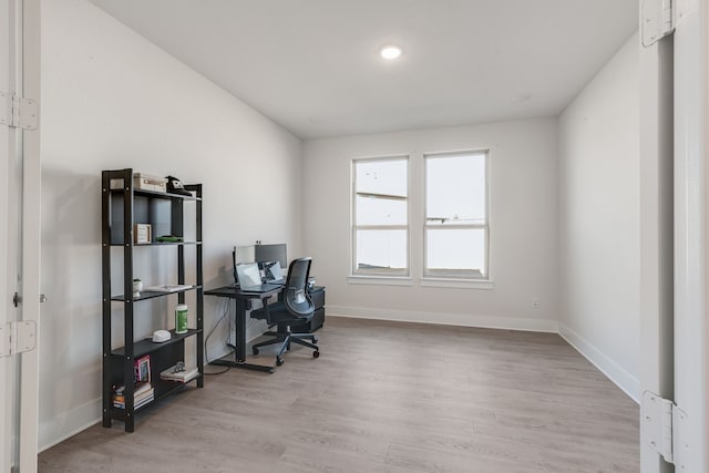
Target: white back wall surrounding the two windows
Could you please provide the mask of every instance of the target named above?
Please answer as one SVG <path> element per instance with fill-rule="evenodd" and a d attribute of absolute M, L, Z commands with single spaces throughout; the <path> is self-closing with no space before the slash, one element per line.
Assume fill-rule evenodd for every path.
<path fill-rule="evenodd" d="M 556 146 L 553 119 L 307 141 L 305 253 L 327 286 L 328 315 L 556 331 Z M 494 287 L 421 287 L 420 251 L 412 254 L 410 286 L 349 282 L 351 160 L 408 154 L 415 168 L 422 153 L 470 148 L 491 150 Z M 412 202 L 422 202 L 422 178 L 413 176 Z M 420 241 L 421 226 L 411 232 Z"/>

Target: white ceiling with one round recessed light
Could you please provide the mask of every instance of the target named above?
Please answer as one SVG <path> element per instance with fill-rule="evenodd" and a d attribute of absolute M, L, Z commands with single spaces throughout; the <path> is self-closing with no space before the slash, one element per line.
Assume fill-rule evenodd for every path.
<path fill-rule="evenodd" d="M 556 116 L 638 23 L 637 0 L 92 1 L 302 138 Z"/>

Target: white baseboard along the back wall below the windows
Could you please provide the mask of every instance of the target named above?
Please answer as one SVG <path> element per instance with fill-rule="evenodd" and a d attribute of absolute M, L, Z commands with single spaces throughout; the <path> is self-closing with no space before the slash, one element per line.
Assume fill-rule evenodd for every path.
<path fill-rule="evenodd" d="M 367 307 L 327 306 L 327 317 L 393 320 L 400 322 L 438 323 L 442 326 L 487 329 L 558 332 L 558 322 L 551 319 L 476 316 L 472 313 L 418 312 L 412 310 L 372 309 Z"/>

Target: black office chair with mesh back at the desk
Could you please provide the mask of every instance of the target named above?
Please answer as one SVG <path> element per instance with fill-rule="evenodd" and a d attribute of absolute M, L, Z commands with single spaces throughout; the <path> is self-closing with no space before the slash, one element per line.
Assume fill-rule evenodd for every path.
<path fill-rule="evenodd" d="M 294 333 L 290 331 L 291 325 L 297 327 L 298 325 L 309 322 L 315 312 L 315 305 L 308 294 L 308 276 L 310 275 L 311 263 L 312 258 L 298 258 L 290 261 L 281 300 L 274 304 L 264 301 L 265 307 L 263 309 L 251 311 L 253 318 L 266 320 L 268 327 L 273 327 L 274 325 L 278 327 L 277 331 L 267 331 L 265 333 L 274 337 L 274 340 L 263 341 L 251 347 L 254 354 L 258 354 L 259 347 L 281 343 L 276 354 L 277 366 L 284 363 L 282 354 L 286 350 L 290 350 L 291 342 L 312 348 L 315 350 L 312 352 L 314 358 L 320 356 L 318 346 L 315 345 L 318 342 L 318 338 L 315 335 Z M 310 339 L 312 343 L 304 339 Z"/>

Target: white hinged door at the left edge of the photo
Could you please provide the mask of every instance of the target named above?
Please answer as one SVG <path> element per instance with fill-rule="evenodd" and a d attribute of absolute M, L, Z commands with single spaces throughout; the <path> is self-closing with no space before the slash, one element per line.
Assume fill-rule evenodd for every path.
<path fill-rule="evenodd" d="M 37 471 L 40 160 L 40 0 L 0 0 L 0 471 Z M 29 117 L 29 119 L 28 119 Z"/>

